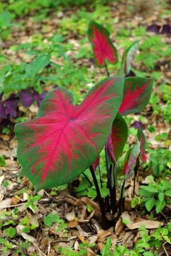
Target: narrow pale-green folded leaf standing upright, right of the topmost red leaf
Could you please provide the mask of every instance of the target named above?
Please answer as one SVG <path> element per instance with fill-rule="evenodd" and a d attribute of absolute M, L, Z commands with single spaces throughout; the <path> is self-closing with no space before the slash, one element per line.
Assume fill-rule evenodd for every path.
<path fill-rule="evenodd" d="M 120 74 L 129 74 L 131 71 L 132 63 L 138 49 L 139 41 L 135 41 L 129 48 L 125 50 L 122 56 Z"/>

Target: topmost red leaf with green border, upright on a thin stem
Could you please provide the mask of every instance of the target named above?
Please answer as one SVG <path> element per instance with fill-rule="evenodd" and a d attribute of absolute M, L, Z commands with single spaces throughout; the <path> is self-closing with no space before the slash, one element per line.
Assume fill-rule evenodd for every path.
<path fill-rule="evenodd" d="M 92 44 L 95 63 L 98 67 L 105 65 L 105 59 L 108 59 L 113 64 L 117 62 L 117 50 L 109 36 L 109 31 L 103 26 L 93 21 L 90 23 L 88 38 Z"/>

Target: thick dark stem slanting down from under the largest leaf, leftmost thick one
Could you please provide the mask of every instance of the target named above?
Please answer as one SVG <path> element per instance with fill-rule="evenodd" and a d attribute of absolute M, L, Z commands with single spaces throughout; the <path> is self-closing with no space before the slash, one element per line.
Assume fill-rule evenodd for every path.
<path fill-rule="evenodd" d="M 94 181 L 94 185 L 95 185 L 96 193 L 97 193 L 97 199 L 98 199 L 99 206 L 100 206 L 101 219 L 102 219 L 102 228 L 105 230 L 105 229 L 108 228 L 107 219 L 106 219 L 106 215 L 105 215 L 105 208 L 104 208 L 104 203 L 103 203 L 103 200 L 102 200 L 102 197 L 101 197 L 101 194 L 100 194 L 99 185 L 98 185 L 96 175 L 95 175 L 95 172 L 94 172 L 94 169 L 93 169 L 92 165 L 90 166 L 90 172 L 91 172 L 92 177 L 93 177 L 93 181 Z"/>

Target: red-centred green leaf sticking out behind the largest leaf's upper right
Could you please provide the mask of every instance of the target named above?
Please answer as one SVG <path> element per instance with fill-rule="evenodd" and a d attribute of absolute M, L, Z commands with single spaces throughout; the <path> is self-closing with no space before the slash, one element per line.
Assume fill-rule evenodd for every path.
<path fill-rule="evenodd" d="M 125 77 L 119 113 L 125 116 L 144 110 L 151 97 L 153 83 L 154 78 Z"/>

